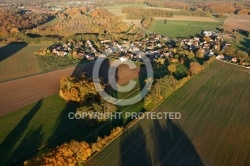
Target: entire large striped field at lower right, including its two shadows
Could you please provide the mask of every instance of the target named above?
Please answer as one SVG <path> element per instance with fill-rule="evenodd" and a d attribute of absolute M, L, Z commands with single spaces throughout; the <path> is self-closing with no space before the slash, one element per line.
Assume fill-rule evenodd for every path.
<path fill-rule="evenodd" d="M 215 61 L 86 165 L 249 165 L 250 70 Z"/>

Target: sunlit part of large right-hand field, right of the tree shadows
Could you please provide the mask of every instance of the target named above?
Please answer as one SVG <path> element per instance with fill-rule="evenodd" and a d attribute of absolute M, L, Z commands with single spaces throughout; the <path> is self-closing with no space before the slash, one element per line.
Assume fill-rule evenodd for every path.
<path fill-rule="evenodd" d="M 157 110 L 182 113 L 178 123 L 205 165 L 248 165 L 249 83 L 249 70 L 215 61 Z"/>

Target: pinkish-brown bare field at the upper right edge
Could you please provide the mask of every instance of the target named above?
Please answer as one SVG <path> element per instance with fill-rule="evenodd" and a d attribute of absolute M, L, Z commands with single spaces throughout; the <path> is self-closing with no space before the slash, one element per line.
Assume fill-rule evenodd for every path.
<path fill-rule="evenodd" d="M 242 29 L 250 31 L 250 15 L 233 15 L 224 22 L 224 29 Z"/>

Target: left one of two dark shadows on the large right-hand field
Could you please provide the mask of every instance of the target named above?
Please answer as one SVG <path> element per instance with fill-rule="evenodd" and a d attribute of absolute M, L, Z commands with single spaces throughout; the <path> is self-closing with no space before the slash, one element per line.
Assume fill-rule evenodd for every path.
<path fill-rule="evenodd" d="M 146 136 L 140 126 L 128 130 L 121 137 L 119 165 L 151 166 L 152 161 L 146 147 Z"/>

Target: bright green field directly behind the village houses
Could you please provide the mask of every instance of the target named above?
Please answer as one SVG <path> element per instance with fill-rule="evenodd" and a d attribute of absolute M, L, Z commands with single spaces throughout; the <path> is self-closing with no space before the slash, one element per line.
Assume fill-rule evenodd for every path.
<path fill-rule="evenodd" d="M 168 37 L 189 37 L 200 34 L 202 30 L 216 30 L 220 22 L 194 22 L 194 21 L 170 21 L 164 24 L 164 20 L 155 20 L 149 28 L 150 32 Z"/>

